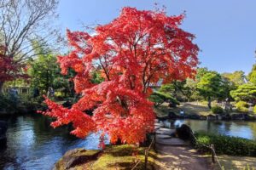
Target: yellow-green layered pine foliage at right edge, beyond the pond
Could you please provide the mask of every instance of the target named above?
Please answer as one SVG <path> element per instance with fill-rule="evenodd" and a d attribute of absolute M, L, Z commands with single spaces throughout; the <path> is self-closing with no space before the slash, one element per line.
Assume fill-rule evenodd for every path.
<path fill-rule="evenodd" d="M 236 101 L 254 102 L 256 99 L 256 86 L 250 83 L 243 84 L 236 90 L 230 91 L 230 95 Z"/>

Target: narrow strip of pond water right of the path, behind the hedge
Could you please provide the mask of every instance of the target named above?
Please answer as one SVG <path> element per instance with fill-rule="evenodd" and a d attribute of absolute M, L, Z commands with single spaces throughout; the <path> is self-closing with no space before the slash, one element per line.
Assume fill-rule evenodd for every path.
<path fill-rule="evenodd" d="M 256 141 L 256 122 L 245 121 L 201 121 L 201 120 L 175 120 L 165 122 L 167 127 L 179 127 L 187 124 L 194 132 L 207 132 L 215 134 L 223 134 L 227 136 L 236 136 L 245 139 L 253 139 Z"/>

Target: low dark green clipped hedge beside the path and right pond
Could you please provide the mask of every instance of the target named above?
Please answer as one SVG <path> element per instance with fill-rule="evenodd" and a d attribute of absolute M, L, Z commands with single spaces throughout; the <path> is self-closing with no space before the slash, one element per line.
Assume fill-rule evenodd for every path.
<path fill-rule="evenodd" d="M 249 139 L 230 137 L 209 133 L 195 133 L 197 138 L 195 147 L 198 150 L 208 151 L 202 144 L 214 144 L 217 154 L 230 156 L 256 156 L 256 142 Z"/>

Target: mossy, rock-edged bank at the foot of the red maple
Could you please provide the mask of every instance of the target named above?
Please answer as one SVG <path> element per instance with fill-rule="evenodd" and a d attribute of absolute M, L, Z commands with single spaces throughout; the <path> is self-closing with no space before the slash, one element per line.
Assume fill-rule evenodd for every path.
<path fill-rule="evenodd" d="M 79 157 L 87 157 L 84 162 L 74 163 L 73 166 L 70 166 L 68 169 L 82 170 L 82 169 L 93 169 L 93 170 L 102 170 L 102 169 L 132 169 L 135 167 L 137 162 L 137 167 L 135 169 L 144 168 L 144 147 L 137 147 L 131 144 L 121 144 L 121 145 L 108 145 L 105 150 L 69 150 L 68 152 L 76 152 L 76 154 L 68 154 L 68 152 L 63 156 L 56 164 L 55 170 L 64 170 L 65 165 L 70 165 L 68 162 L 73 162 L 70 160 L 79 159 Z M 81 151 L 82 150 L 82 151 Z M 88 154 L 86 154 L 86 152 Z M 136 155 L 134 155 L 136 153 Z M 65 157 L 69 159 L 63 161 Z M 148 169 L 160 169 L 155 161 L 156 153 L 154 150 L 149 150 L 148 153 Z M 68 161 L 69 160 L 69 161 Z"/>

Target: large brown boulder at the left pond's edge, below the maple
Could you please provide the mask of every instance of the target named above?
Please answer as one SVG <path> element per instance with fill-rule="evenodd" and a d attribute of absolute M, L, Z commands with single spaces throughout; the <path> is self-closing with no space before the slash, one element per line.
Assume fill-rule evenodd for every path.
<path fill-rule="evenodd" d="M 83 148 L 68 150 L 62 158 L 55 163 L 54 170 L 73 169 L 88 161 L 96 160 L 102 150 L 84 150 Z"/>

